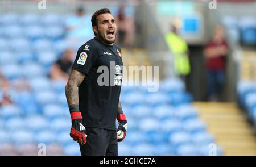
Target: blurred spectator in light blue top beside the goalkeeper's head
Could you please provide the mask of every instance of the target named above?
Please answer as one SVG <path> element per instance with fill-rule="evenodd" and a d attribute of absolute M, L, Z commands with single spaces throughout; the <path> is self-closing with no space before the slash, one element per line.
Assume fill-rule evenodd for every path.
<path fill-rule="evenodd" d="M 68 16 L 65 26 L 67 40 L 75 48 L 94 37 L 90 15 L 85 14 L 82 7 L 77 9 L 75 15 Z"/>

